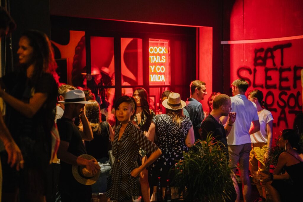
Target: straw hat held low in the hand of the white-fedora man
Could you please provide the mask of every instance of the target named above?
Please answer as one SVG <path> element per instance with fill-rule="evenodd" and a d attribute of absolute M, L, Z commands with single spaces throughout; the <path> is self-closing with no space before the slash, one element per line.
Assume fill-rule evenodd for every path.
<path fill-rule="evenodd" d="M 88 159 L 88 160 L 94 159 L 95 162 L 98 163 L 98 161 L 91 155 L 82 154 L 80 157 Z M 79 183 L 85 184 L 85 185 L 95 184 L 95 182 L 98 180 L 99 175 L 100 175 L 100 171 L 98 171 L 97 174 L 93 175 L 85 168 L 85 166 L 79 166 L 79 165 L 72 166 L 72 173 L 73 173 L 73 176 L 75 177 L 75 179 Z"/>

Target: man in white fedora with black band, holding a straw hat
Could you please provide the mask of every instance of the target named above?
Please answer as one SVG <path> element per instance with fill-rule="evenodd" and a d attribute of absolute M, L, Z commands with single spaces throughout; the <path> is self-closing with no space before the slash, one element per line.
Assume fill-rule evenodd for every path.
<path fill-rule="evenodd" d="M 91 185 L 79 183 L 72 174 L 72 165 L 85 166 L 92 176 L 100 171 L 98 162 L 94 159 L 79 157 L 86 154 L 82 140 L 93 139 L 92 128 L 84 114 L 85 104 L 90 104 L 85 99 L 82 90 L 68 91 L 64 95 L 65 100 L 59 101 L 65 104 L 64 114 L 57 120 L 60 134 L 60 146 L 57 157 L 61 160 L 58 188 L 62 202 L 65 201 L 90 201 L 92 197 Z M 78 128 L 73 119 L 80 117 L 82 127 Z"/>

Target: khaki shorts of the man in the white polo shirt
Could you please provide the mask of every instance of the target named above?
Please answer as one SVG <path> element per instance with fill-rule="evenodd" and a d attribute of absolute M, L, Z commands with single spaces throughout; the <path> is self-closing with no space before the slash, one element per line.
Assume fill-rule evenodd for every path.
<path fill-rule="evenodd" d="M 251 143 L 240 145 L 228 145 L 229 166 L 234 167 L 232 171 L 236 172 L 236 167 L 240 170 L 247 170 L 249 168 L 249 153 L 251 151 Z"/>

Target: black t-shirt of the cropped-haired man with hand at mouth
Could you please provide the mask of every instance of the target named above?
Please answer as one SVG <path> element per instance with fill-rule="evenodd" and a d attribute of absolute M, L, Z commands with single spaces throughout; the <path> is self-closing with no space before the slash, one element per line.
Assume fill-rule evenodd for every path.
<path fill-rule="evenodd" d="M 225 145 L 224 152 L 227 160 L 229 160 L 224 126 L 222 123 L 218 123 L 218 121 L 211 114 L 208 114 L 208 116 L 203 120 L 201 124 L 202 140 L 206 140 L 207 135 L 211 132 L 213 132 L 212 136 L 215 137 L 216 140 L 221 141 Z"/>

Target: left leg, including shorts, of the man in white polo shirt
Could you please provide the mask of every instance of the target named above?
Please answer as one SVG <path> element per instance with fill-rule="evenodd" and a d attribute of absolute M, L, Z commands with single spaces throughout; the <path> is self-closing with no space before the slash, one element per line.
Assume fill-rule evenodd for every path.
<path fill-rule="evenodd" d="M 231 176 L 231 179 L 234 183 L 234 187 L 237 193 L 237 199 L 235 202 L 240 201 L 240 189 L 236 180 L 236 169 L 239 161 L 239 147 L 238 145 L 228 145 L 228 153 L 229 153 L 229 166 L 232 167 L 232 171 L 234 174 Z"/>

